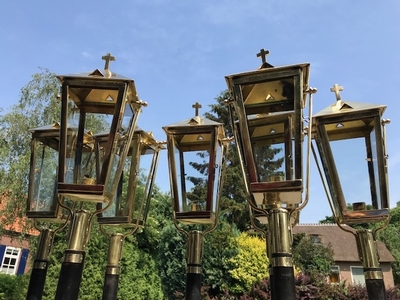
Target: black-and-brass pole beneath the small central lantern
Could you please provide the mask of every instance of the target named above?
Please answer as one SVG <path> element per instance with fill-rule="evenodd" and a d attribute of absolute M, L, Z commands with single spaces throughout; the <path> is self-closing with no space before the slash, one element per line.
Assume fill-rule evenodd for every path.
<path fill-rule="evenodd" d="M 186 254 L 186 300 L 201 299 L 203 242 L 204 236 L 201 231 L 189 232 Z"/>

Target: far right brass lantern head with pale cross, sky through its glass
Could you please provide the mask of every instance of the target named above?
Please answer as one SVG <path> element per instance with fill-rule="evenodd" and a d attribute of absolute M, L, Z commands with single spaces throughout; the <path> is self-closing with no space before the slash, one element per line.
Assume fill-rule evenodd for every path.
<path fill-rule="evenodd" d="M 335 84 L 331 91 L 336 102 L 313 116 L 319 157 L 314 154 L 332 211 L 340 224 L 386 220 L 385 124 L 389 121 L 382 119 L 386 106 L 344 101 L 341 90 Z"/>

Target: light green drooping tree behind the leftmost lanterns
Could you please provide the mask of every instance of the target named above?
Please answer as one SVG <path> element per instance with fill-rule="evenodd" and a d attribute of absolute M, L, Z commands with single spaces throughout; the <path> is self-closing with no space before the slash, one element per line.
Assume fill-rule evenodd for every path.
<path fill-rule="evenodd" d="M 11 200 L 2 211 L 3 216 L 7 216 L 1 219 L 3 225 L 25 214 L 30 164 L 29 129 L 60 119 L 59 84 L 49 70 L 41 71 L 21 89 L 18 103 L 0 116 L 0 194 Z"/>

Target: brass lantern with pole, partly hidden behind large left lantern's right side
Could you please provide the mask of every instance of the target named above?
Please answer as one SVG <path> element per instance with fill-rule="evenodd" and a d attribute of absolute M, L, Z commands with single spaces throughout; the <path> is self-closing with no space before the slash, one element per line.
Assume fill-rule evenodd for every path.
<path fill-rule="evenodd" d="M 98 158 L 96 166 L 100 169 L 108 134 L 95 135 L 94 139 Z M 111 207 L 110 204 L 99 207 L 97 220 L 100 229 L 110 237 L 103 299 L 117 299 L 123 243 L 126 236 L 145 226 L 162 149 L 163 145 L 151 133 L 136 127 Z M 102 205 L 99 203 L 98 206 Z"/>

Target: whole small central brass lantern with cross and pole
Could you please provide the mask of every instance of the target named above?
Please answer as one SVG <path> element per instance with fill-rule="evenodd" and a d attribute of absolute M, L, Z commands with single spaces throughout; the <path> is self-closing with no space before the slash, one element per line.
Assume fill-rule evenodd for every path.
<path fill-rule="evenodd" d="M 167 134 L 168 166 L 175 227 L 188 236 L 186 296 L 201 298 L 204 235 L 215 229 L 225 169 L 228 139 L 221 123 L 196 115 L 163 127 Z M 186 231 L 178 224 L 205 225 Z M 193 227 L 192 227 L 193 228 Z"/>

